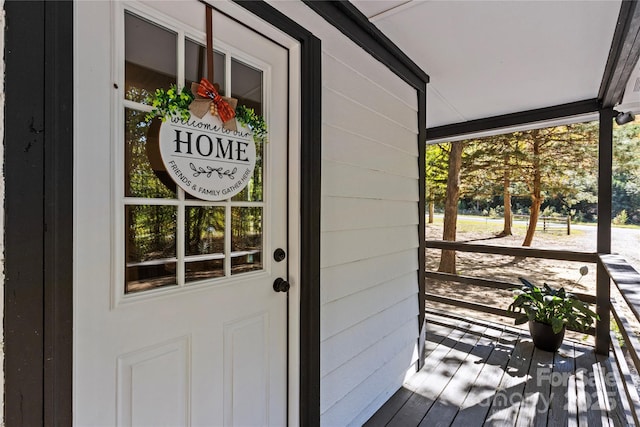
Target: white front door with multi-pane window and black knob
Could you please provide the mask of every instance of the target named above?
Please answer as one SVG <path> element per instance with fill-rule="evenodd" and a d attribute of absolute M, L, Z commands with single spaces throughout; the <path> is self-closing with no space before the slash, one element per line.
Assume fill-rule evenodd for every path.
<path fill-rule="evenodd" d="M 149 159 L 145 122 L 155 89 L 206 76 L 204 5 L 75 8 L 75 424 L 286 425 L 287 49 L 214 11 L 215 81 L 269 142 L 207 202 Z"/>

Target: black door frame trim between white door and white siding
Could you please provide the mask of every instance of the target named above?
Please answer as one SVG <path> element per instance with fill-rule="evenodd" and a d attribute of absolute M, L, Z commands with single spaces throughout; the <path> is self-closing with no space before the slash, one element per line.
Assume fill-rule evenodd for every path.
<path fill-rule="evenodd" d="M 322 50 L 320 40 L 262 1 L 238 1 L 301 47 L 300 425 L 320 425 L 320 202 Z"/>

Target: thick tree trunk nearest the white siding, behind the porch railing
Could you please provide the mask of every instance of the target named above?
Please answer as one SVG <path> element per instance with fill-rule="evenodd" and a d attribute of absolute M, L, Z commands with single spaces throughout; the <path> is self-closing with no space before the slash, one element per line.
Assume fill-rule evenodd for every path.
<path fill-rule="evenodd" d="M 442 240 L 454 242 L 456 240 L 456 226 L 458 222 L 458 199 L 460 198 L 460 168 L 462 167 L 462 142 L 451 143 L 449 152 L 449 173 L 447 176 L 447 197 L 444 205 L 444 230 Z M 442 251 L 438 271 L 444 273 L 456 272 L 456 252 Z"/>

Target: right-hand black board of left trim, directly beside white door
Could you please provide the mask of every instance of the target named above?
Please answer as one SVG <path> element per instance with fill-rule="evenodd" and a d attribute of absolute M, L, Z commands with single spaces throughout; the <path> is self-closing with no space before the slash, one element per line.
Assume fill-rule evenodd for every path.
<path fill-rule="evenodd" d="M 57 425 L 72 421 L 73 9 L 45 1 L 44 415 Z"/>

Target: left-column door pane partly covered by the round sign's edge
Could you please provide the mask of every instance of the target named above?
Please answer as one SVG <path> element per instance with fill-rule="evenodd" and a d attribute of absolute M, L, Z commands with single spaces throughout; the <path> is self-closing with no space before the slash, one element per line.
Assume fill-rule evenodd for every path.
<path fill-rule="evenodd" d="M 125 108 L 124 190 L 127 197 L 175 198 L 176 184 L 167 173 L 158 149 L 158 125 L 150 126 L 145 112 Z"/>

